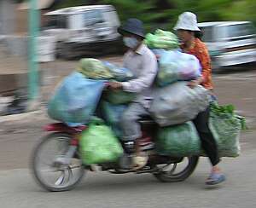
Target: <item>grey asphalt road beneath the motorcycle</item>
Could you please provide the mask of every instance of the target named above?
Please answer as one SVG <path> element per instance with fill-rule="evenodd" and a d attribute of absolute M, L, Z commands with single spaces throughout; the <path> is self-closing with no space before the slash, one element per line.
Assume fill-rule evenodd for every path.
<path fill-rule="evenodd" d="M 208 161 L 201 159 L 185 182 L 161 183 L 151 175 L 90 173 L 72 191 L 49 193 L 38 187 L 27 169 L 0 171 L 1 207 L 172 207 L 253 208 L 256 206 L 256 153 L 247 150 L 238 159 L 223 159 L 227 181 L 208 188 L 204 180 Z"/>

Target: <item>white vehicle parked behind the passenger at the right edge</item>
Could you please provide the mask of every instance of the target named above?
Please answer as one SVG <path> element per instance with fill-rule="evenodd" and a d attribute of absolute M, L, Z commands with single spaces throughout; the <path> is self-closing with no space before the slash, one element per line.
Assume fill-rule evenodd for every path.
<path fill-rule="evenodd" d="M 256 35 L 250 21 L 219 21 L 198 24 L 207 44 L 212 69 L 241 66 L 256 61 Z"/>

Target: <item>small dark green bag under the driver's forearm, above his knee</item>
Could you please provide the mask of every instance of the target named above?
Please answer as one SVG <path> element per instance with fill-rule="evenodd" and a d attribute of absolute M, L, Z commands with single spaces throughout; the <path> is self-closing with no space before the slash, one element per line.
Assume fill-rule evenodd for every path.
<path fill-rule="evenodd" d="M 126 104 L 134 101 L 137 94 L 132 92 L 125 92 L 123 90 L 108 90 L 104 94 L 104 99 L 112 104 Z"/>

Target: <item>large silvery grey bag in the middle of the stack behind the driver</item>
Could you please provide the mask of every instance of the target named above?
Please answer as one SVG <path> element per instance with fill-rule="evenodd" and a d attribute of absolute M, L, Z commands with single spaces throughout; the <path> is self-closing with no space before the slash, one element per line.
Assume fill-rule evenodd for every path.
<path fill-rule="evenodd" d="M 208 90 L 202 86 L 191 89 L 186 82 L 154 89 L 153 96 L 149 112 L 160 126 L 183 124 L 209 105 Z"/>

